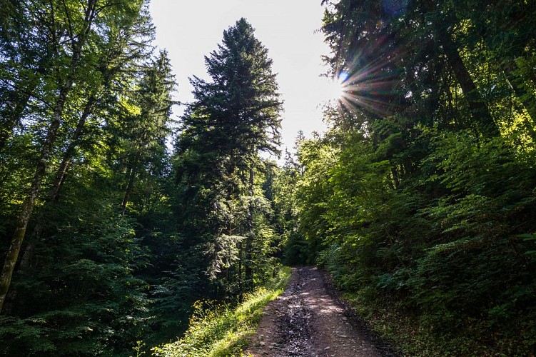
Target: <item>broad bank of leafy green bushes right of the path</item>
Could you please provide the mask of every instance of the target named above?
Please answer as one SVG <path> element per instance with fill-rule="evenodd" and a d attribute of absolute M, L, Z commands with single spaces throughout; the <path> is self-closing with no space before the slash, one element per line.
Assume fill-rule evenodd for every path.
<path fill-rule="evenodd" d="M 301 203 L 300 218 L 315 219 L 301 229 L 310 239 L 321 223 L 317 263 L 335 284 L 405 353 L 530 353 L 535 262 L 532 234 L 521 233 L 534 229 L 534 151 L 507 137 L 425 130 L 417 140 L 430 154 L 396 182 L 400 156 L 384 160 L 393 141 L 340 138 L 320 182 L 305 172 L 298 186 L 298 197 L 314 198 Z M 313 196 L 328 184 L 329 195 Z"/>

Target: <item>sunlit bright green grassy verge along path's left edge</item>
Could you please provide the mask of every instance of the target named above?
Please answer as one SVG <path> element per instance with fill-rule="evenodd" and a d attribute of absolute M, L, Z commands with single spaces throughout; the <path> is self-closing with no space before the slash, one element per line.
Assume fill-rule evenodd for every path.
<path fill-rule="evenodd" d="M 203 309 L 203 303 L 198 303 L 184 336 L 153 348 L 154 356 L 241 356 L 256 331 L 262 308 L 283 292 L 289 280 L 290 268 L 283 267 L 273 281 L 246 295 L 235 308 Z"/>

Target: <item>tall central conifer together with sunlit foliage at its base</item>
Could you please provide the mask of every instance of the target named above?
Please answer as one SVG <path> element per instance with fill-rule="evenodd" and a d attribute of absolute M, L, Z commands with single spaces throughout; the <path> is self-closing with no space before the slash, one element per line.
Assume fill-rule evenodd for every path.
<path fill-rule="evenodd" d="M 205 62 L 211 80 L 191 79 L 195 100 L 176 141 L 175 208 L 224 298 L 251 291 L 272 270 L 276 238 L 261 176 L 270 164 L 259 153 L 278 152 L 282 102 L 268 50 L 246 19 L 223 31 Z"/>

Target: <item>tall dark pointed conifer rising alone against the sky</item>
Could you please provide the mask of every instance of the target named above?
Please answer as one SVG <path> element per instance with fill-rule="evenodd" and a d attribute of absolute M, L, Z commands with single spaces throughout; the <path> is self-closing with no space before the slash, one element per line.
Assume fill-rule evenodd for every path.
<path fill-rule="evenodd" d="M 238 20 L 223 32 L 218 49 L 205 58 L 211 81 L 191 79 L 195 100 L 187 106 L 176 146 L 178 179 L 185 186 L 183 199 L 195 202 L 196 216 L 203 212 L 202 216 L 212 217 L 216 223 L 203 227 L 190 221 L 196 226 L 194 234 L 221 237 L 216 241 L 222 244 L 216 243 L 213 253 L 219 256 L 218 252 L 228 251 L 223 260 L 227 263 L 216 263 L 214 271 L 228 268 L 229 262 L 238 259 L 239 283 L 243 262 L 250 287 L 254 173 L 260 166 L 260 151 L 277 153 L 282 110 L 268 49 L 253 32 L 246 19 Z"/>

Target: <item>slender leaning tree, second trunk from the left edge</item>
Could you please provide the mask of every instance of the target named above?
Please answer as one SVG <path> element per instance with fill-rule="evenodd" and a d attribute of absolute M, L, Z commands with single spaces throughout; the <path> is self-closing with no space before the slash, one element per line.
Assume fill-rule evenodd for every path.
<path fill-rule="evenodd" d="M 71 101 L 79 101 L 74 104 L 71 111 L 74 112 L 73 126 L 69 135 L 65 136 L 64 147 L 60 149 L 61 158 L 59 166 L 52 178 L 48 190 L 48 196 L 44 198 L 46 208 L 59 200 L 61 186 L 76 156 L 87 155 L 88 146 L 96 143 L 106 131 L 115 127 L 114 121 L 118 122 L 115 115 L 118 100 L 123 93 L 136 93 L 126 88 L 135 81 L 141 69 L 145 69 L 146 56 L 152 51 L 148 45 L 153 38 L 153 27 L 146 9 L 141 9 L 136 19 L 125 18 L 122 21 L 108 24 L 107 34 L 96 41 L 95 49 L 96 64 L 93 73 L 93 81 L 86 80 L 79 84 L 79 90 L 72 95 Z M 145 69 L 147 71 L 148 69 Z M 144 91 L 148 89 L 141 89 Z M 76 118 L 78 116 L 78 118 Z M 75 125 L 76 124 L 76 125 Z M 39 212 L 36 224 L 31 231 L 29 239 L 26 239 L 26 247 L 21 258 L 19 270 L 24 271 L 31 264 L 32 252 L 36 241 L 39 241 L 44 228 L 44 209 Z"/>

